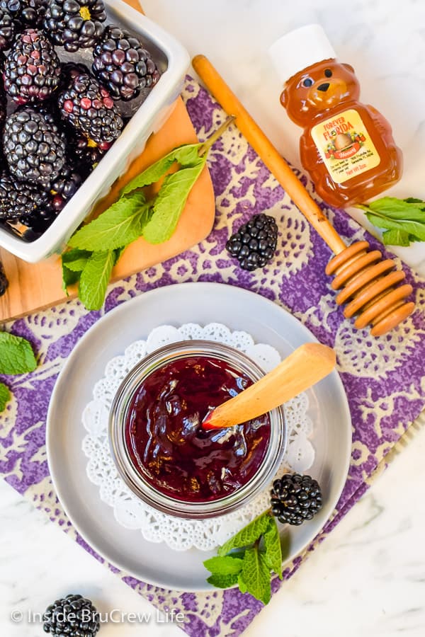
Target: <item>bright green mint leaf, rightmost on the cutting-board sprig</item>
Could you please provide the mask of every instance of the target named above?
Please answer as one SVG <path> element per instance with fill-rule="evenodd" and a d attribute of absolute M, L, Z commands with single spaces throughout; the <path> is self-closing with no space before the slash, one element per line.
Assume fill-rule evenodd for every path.
<path fill-rule="evenodd" d="M 205 155 L 198 158 L 193 166 L 181 168 L 178 172 L 166 176 L 154 200 L 152 217 L 143 229 L 146 241 L 162 243 L 171 237 L 188 195 L 203 171 L 206 157 Z"/>

